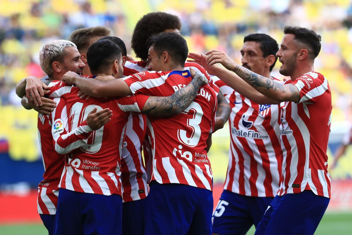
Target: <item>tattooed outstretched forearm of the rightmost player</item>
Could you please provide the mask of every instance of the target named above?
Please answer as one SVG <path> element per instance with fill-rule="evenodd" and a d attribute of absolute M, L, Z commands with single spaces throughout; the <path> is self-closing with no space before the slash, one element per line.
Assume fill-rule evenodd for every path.
<path fill-rule="evenodd" d="M 238 64 L 233 69 L 233 72 L 259 92 L 276 101 L 297 102 L 300 98 L 299 91 L 293 84 L 279 84 L 262 75 L 253 73 L 251 70 L 239 66 Z"/>

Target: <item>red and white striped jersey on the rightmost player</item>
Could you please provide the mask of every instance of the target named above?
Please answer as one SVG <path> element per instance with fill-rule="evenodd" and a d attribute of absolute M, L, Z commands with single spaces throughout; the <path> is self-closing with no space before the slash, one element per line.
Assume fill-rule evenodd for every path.
<path fill-rule="evenodd" d="M 309 72 L 285 84 L 298 88 L 300 101 L 280 104 L 283 163 L 278 195 L 312 190 L 330 198 L 326 151 L 332 104 L 328 81 L 320 73 Z"/>

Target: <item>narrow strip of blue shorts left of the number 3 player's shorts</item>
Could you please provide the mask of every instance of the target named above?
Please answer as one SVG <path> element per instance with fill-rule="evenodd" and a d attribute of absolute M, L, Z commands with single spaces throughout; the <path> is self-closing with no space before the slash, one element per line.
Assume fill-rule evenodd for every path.
<path fill-rule="evenodd" d="M 147 199 L 122 203 L 122 234 L 144 234 Z"/>

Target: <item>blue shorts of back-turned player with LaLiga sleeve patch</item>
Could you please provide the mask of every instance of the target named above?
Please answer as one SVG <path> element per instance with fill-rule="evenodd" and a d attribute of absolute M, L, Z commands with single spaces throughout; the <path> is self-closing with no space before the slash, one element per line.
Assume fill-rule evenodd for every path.
<path fill-rule="evenodd" d="M 122 198 L 59 189 L 55 235 L 122 234 Z"/>

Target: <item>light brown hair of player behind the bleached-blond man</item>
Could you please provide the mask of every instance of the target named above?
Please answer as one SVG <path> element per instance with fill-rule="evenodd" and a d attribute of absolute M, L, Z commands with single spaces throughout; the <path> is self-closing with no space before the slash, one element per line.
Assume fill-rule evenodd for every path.
<path fill-rule="evenodd" d="M 88 49 L 93 37 L 105 37 L 111 35 L 111 30 L 104 26 L 77 29 L 70 35 L 69 41 L 76 44 L 78 51 Z"/>

